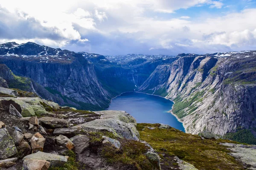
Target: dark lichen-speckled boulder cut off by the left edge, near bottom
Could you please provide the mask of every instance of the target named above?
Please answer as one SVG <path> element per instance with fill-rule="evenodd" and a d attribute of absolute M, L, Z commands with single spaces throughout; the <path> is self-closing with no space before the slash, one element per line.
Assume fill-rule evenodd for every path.
<path fill-rule="evenodd" d="M 9 158 L 16 153 L 17 148 L 7 129 L 0 129 L 0 159 Z"/>

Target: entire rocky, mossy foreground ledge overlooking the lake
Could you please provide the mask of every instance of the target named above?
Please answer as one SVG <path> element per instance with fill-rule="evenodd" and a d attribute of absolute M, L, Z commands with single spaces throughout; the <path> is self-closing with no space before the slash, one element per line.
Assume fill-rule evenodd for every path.
<path fill-rule="evenodd" d="M 187 143 L 179 145 L 182 142 Z M 169 125 L 137 124 L 125 111 L 80 111 L 38 97 L 0 97 L 3 170 L 205 169 L 188 159 L 191 147 L 199 162 L 206 161 L 202 159 L 206 150 L 214 150 L 208 156 L 224 159 L 219 163 L 226 163 L 226 169 L 256 168 L 256 158 L 247 159 L 248 154 L 255 155 L 255 146 L 227 142 Z"/>

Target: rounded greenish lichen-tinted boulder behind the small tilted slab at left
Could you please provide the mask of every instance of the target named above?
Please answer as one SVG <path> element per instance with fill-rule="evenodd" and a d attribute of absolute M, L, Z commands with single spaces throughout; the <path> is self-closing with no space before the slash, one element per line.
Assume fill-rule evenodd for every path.
<path fill-rule="evenodd" d="M 26 102 L 23 102 L 22 98 L 6 97 L 5 99 L 1 100 L 1 104 L 3 109 L 6 111 L 9 111 L 10 105 L 12 104 L 23 117 L 35 115 L 33 108 Z"/>

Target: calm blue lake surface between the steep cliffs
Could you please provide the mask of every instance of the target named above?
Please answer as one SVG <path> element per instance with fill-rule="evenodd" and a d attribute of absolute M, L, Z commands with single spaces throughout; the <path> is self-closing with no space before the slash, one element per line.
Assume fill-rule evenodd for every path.
<path fill-rule="evenodd" d="M 126 111 L 138 123 L 163 123 L 184 132 L 182 123 L 168 112 L 172 105 L 172 101 L 160 96 L 127 92 L 112 99 L 108 110 Z"/>

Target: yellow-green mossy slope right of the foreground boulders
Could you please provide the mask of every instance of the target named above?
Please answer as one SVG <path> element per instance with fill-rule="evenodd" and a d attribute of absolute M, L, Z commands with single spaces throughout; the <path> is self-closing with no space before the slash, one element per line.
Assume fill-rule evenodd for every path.
<path fill-rule="evenodd" d="M 138 124 L 141 140 L 151 144 L 159 154 L 176 155 L 180 159 L 193 164 L 199 170 L 243 170 L 244 167 L 236 161 L 220 142 L 237 143 L 224 139 L 205 139 L 200 136 L 183 133 L 175 128 L 149 130 L 148 127 L 157 127 L 155 124 Z M 144 130 L 142 130 L 144 129 Z M 163 139 L 163 141 L 158 140 Z M 163 150 L 163 148 L 165 148 Z M 165 164 L 167 164 L 165 162 Z M 173 164 L 171 161 L 169 164 Z"/>

